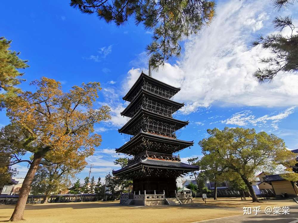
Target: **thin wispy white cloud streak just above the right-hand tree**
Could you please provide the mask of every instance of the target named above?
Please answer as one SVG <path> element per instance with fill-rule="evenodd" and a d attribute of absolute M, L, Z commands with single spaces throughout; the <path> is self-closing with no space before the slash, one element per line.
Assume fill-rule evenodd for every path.
<path fill-rule="evenodd" d="M 274 130 L 278 129 L 278 122 L 280 122 L 282 119 L 285 119 L 288 117 L 290 114 L 294 112 L 296 106 L 292 106 L 277 115 L 273 114 L 266 114 L 261 117 L 256 118 L 254 114 L 252 114 L 252 111 L 245 110 L 242 112 L 237 112 L 232 115 L 232 117 L 222 120 L 221 123 L 224 124 L 231 124 L 231 125 L 239 125 L 239 126 L 244 126 L 244 125 L 254 125 L 261 127 L 267 122 L 271 122 L 271 127 L 274 128 Z"/>

